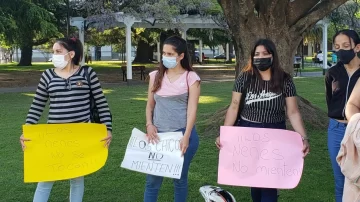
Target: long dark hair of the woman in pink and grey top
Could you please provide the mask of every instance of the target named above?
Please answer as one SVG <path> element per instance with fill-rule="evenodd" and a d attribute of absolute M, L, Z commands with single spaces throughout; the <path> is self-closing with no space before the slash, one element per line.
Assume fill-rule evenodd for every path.
<path fill-rule="evenodd" d="M 181 66 L 187 71 L 194 71 L 190 63 L 190 55 L 189 55 L 187 43 L 184 39 L 182 39 L 179 36 L 171 36 L 164 41 L 164 45 L 165 44 L 173 46 L 175 52 L 178 55 L 184 53 L 184 58 L 180 61 Z M 164 78 L 165 71 L 166 71 L 166 67 L 161 61 L 158 68 L 158 72 L 155 76 L 152 92 L 156 92 L 161 88 L 161 83 Z"/>

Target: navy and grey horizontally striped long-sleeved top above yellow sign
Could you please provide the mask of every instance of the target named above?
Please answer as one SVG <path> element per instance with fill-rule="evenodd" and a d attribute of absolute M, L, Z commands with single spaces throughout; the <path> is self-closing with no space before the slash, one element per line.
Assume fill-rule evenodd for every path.
<path fill-rule="evenodd" d="M 26 124 L 38 123 L 49 100 L 47 123 L 86 123 L 90 121 L 90 90 L 99 111 L 101 123 L 112 130 L 112 118 L 107 100 L 95 71 L 89 67 L 88 84 L 84 68 L 68 79 L 59 77 L 54 69 L 42 73 L 36 95 L 26 118 Z"/>

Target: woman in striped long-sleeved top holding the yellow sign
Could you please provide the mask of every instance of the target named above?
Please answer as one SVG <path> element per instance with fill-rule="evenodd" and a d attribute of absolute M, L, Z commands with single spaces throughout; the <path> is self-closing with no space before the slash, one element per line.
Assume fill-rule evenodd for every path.
<path fill-rule="evenodd" d="M 99 119 L 108 129 L 103 139 L 106 146 L 112 139 L 112 118 L 106 98 L 102 92 L 96 73 L 91 67 L 81 67 L 83 46 L 78 39 L 58 39 L 54 46 L 53 69 L 43 72 L 36 95 L 26 118 L 26 124 L 37 124 L 49 100 L 47 123 L 87 123 L 90 122 L 90 96 L 94 98 L 99 111 Z M 87 74 L 86 74 L 87 71 Z M 87 75 L 90 77 L 88 82 Z M 87 95 L 87 96 L 84 96 Z M 25 139 L 20 143 L 25 149 Z M 37 185 L 34 202 L 46 202 L 54 182 L 40 182 Z M 70 201 L 81 202 L 84 194 L 84 177 L 70 180 Z"/>

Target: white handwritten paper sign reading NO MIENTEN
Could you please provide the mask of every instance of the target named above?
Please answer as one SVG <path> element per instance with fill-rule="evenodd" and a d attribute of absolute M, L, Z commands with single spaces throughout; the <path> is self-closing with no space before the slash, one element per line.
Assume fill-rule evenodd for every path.
<path fill-rule="evenodd" d="M 181 132 L 158 133 L 159 143 L 149 144 L 146 135 L 134 128 L 121 167 L 151 175 L 180 179 Z"/>

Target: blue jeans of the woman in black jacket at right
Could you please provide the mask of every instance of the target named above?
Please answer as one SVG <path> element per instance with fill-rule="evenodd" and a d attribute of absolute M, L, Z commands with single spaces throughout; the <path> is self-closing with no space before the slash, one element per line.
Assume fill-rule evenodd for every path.
<path fill-rule="evenodd" d="M 335 178 L 336 202 L 342 202 L 344 190 L 345 177 L 341 172 L 339 164 L 336 162 L 336 156 L 340 150 L 340 143 L 345 136 L 345 130 L 346 124 L 340 123 L 335 119 L 330 119 L 328 127 L 328 150 Z"/>

